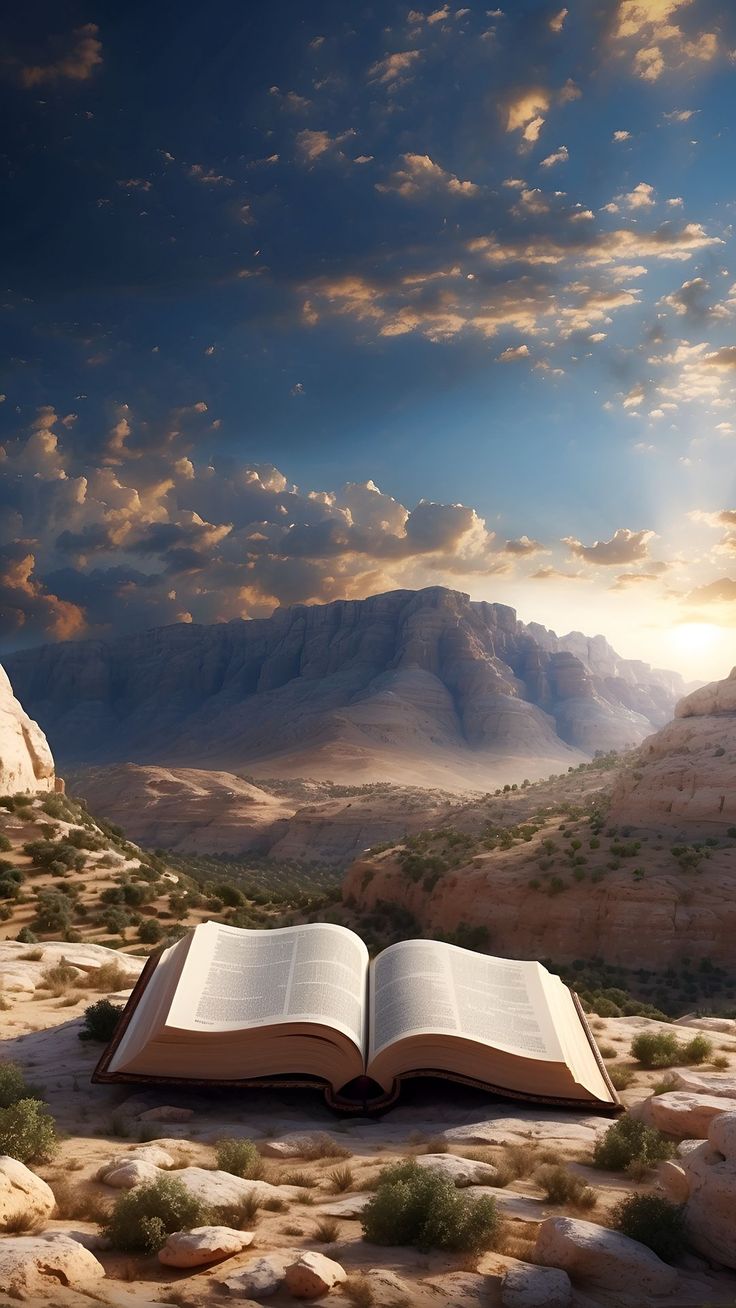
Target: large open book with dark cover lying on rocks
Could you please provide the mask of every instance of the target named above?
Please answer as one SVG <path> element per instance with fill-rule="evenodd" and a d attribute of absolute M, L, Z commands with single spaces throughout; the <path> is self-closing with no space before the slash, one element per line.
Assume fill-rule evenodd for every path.
<path fill-rule="evenodd" d="M 373 961 L 327 922 L 205 922 L 149 959 L 94 1080 L 320 1084 L 393 1101 L 408 1076 L 502 1095 L 618 1103 L 577 997 L 540 963 L 404 940 Z"/>

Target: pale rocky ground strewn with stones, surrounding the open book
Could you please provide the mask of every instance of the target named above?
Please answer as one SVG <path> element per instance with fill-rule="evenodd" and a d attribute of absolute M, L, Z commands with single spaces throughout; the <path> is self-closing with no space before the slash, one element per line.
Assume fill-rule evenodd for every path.
<path fill-rule="evenodd" d="M 61 959 L 59 993 L 52 980 Z M 0 1159 L 0 1279 L 13 1300 L 68 1308 L 286 1305 L 305 1296 L 333 1308 L 733 1303 L 736 1023 L 672 1028 L 594 1018 L 609 1066 L 631 1071 L 629 1114 L 664 1131 L 658 1138 L 676 1151 L 659 1172 L 644 1168 L 634 1180 L 591 1165 L 609 1118 L 460 1087 L 417 1092 L 379 1120 L 335 1117 L 303 1093 L 92 1087 L 101 1046 L 80 1041 L 81 1014 L 110 985 L 129 985 L 141 965 L 99 946 L 0 943 L 0 1059 L 22 1069 L 61 1131 L 50 1163 Z M 661 1074 L 629 1054 L 642 1031 L 675 1029 L 688 1041 L 709 1025 L 718 1028 L 710 1035 L 726 1063 L 719 1071 L 676 1067 L 663 1086 Z M 250 1179 L 229 1172 L 217 1152 L 218 1142 L 246 1138 L 260 1155 Z M 361 1216 L 376 1177 L 408 1158 L 463 1193 L 495 1199 L 503 1227 L 494 1249 L 421 1253 L 363 1239 Z M 550 1167 L 574 1179 L 577 1198 L 550 1198 Z M 162 1176 L 178 1179 L 217 1220 L 171 1232 L 158 1254 L 110 1248 L 99 1223 L 115 1199 Z M 689 1252 L 675 1264 L 612 1230 L 616 1203 L 631 1193 L 685 1205 Z"/>

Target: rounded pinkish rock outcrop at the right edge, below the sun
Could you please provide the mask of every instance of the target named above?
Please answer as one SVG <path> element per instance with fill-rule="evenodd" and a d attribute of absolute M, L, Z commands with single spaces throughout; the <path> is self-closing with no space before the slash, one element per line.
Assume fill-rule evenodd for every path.
<path fill-rule="evenodd" d="M 736 668 L 681 700 L 622 773 L 612 819 L 719 835 L 736 827 Z"/>

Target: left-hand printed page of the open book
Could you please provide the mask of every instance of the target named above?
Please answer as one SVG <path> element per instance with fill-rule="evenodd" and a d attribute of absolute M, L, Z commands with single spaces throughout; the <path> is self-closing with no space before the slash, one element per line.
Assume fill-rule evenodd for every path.
<path fill-rule="evenodd" d="M 335 1027 L 365 1045 L 363 942 L 324 922 L 247 931 L 197 926 L 167 1027 L 233 1031 L 272 1023 Z"/>

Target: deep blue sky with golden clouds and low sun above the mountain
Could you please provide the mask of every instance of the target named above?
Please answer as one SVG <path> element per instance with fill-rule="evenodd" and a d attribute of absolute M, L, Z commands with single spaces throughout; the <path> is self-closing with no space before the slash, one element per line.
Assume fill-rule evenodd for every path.
<path fill-rule="evenodd" d="M 14 9 L 0 653 L 443 585 L 728 674 L 736 7 Z"/>

